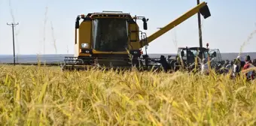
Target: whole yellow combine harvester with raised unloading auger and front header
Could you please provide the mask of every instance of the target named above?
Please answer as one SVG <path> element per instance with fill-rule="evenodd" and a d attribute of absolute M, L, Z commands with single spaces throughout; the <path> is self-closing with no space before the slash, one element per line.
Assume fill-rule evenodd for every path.
<path fill-rule="evenodd" d="M 148 43 L 160 37 L 180 23 L 201 13 L 206 19 L 211 16 L 206 2 L 188 10 L 165 27 L 147 37 L 139 29 L 137 20 L 142 20 L 144 30 L 148 19 L 132 17 L 121 11 L 103 11 L 78 15 L 75 22 L 75 54 L 65 57 L 63 69 L 78 69 L 92 66 L 106 68 L 159 68 L 147 54 Z M 82 22 L 80 23 L 80 20 Z M 140 37 L 140 38 L 139 38 Z M 142 47 L 145 46 L 145 55 Z"/>

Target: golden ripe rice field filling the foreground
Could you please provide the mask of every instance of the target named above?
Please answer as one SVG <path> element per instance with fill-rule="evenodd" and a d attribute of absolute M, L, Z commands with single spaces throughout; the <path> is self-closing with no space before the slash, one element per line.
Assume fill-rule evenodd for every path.
<path fill-rule="evenodd" d="M 0 66 L 1 125 L 256 125 L 256 81 Z"/>

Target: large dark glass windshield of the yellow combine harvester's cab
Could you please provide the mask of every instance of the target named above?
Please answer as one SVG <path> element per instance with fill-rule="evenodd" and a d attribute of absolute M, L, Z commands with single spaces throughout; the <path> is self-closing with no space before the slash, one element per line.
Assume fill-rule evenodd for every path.
<path fill-rule="evenodd" d="M 107 52 L 126 51 L 129 38 L 126 19 L 95 19 L 92 30 L 94 49 Z"/>

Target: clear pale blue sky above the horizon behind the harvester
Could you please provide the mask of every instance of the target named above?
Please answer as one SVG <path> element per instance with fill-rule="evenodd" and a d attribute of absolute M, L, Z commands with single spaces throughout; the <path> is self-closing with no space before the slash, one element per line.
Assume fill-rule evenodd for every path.
<path fill-rule="evenodd" d="M 206 20 L 202 17 L 203 46 L 209 43 L 209 47 L 221 52 L 239 52 L 242 43 L 248 41 L 242 52 L 256 52 L 256 33 L 248 40 L 256 30 L 256 1 L 206 2 L 212 17 Z M 195 5 L 197 0 L 0 0 L 0 54 L 13 53 L 11 26 L 6 23 L 19 23 L 15 27 L 17 54 L 72 54 L 78 14 L 122 10 L 133 16 L 145 16 L 149 19 L 149 36 Z M 142 28 L 142 23 L 139 26 Z M 199 46 L 197 14 L 151 42 L 148 52 L 175 53 L 177 46 Z"/>

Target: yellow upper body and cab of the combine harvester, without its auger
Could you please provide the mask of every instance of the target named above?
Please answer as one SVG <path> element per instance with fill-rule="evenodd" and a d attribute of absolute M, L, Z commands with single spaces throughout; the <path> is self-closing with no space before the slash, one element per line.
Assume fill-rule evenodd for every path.
<path fill-rule="evenodd" d="M 80 20 L 83 20 L 80 22 Z M 147 43 L 139 42 L 139 32 L 136 20 L 142 20 L 144 30 L 148 29 L 148 19 L 145 17 L 132 17 L 130 13 L 122 11 L 102 11 L 102 13 L 88 13 L 78 15 L 75 22 L 75 44 L 78 46 L 87 43 L 86 47 L 79 46 L 79 55 L 84 55 L 84 49 L 90 49 L 91 55 L 111 55 L 118 53 L 126 55 L 126 49 L 130 54 L 142 53 L 142 46 Z M 77 33 L 78 30 L 78 33 Z M 77 38 L 78 34 L 78 38 Z M 143 34 L 145 34 L 143 32 Z M 78 39 L 78 40 L 77 40 Z M 116 54 L 117 55 L 117 54 Z M 139 55 L 140 56 L 140 55 Z"/>

